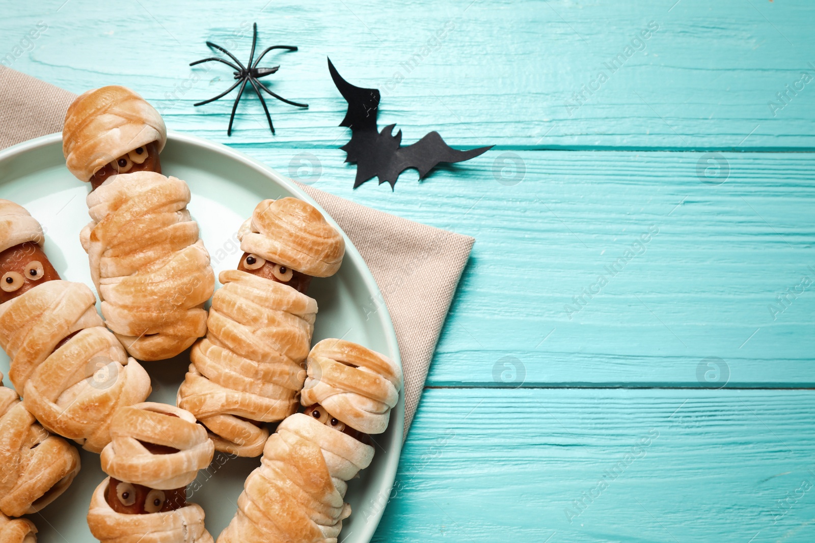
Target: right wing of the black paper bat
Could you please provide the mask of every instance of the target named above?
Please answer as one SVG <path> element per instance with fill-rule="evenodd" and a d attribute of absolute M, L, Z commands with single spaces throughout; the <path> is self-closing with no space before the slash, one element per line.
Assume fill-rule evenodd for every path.
<path fill-rule="evenodd" d="M 419 170 L 419 178 L 422 179 L 430 173 L 431 169 L 434 169 L 442 162 L 454 163 L 470 160 L 492 147 L 478 147 L 478 149 L 469 151 L 459 151 L 447 145 L 441 135 L 434 131 L 412 145 L 400 147 L 399 150 L 395 151 L 387 167 L 381 168 L 377 175 L 380 183 L 389 182 L 390 188 L 393 189 L 396 178 L 408 168 Z"/>

